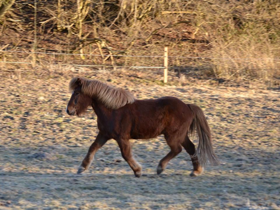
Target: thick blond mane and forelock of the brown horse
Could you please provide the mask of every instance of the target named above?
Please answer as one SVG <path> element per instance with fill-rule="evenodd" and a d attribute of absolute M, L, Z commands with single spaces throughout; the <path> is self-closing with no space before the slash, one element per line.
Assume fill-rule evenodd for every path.
<path fill-rule="evenodd" d="M 69 83 L 69 91 L 81 86 L 82 92 L 90 97 L 96 97 L 107 108 L 118 109 L 125 104 L 132 104 L 136 99 L 128 91 L 122 88 L 114 88 L 104 82 L 84 77 L 75 77 Z"/>

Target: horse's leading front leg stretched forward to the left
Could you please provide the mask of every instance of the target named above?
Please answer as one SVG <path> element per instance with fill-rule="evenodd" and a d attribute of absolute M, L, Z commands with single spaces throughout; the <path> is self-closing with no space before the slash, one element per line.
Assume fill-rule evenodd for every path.
<path fill-rule="evenodd" d="M 85 170 L 87 170 L 90 167 L 90 164 L 94 158 L 95 153 L 99 148 L 101 148 L 106 142 L 108 141 L 108 138 L 98 133 L 95 141 L 90 146 L 88 153 L 86 154 L 85 158 L 83 159 L 83 162 L 78 168 L 78 174 L 83 173 Z"/>

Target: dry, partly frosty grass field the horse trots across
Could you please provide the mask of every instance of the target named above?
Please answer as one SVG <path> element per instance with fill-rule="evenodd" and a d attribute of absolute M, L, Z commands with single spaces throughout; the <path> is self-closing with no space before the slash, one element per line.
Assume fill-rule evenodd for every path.
<path fill-rule="evenodd" d="M 74 75 L 1 78 L 0 209 L 280 209 L 279 91 L 83 73 L 139 99 L 172 95 L 199 105 L 221 163 L 193 178 L 190 157 L 182 151 L 156 175 L 169 151 L 159 136 L 131 141 L 143 166 L 140 178 L 114 140 L 77 175 L 98 130 L 92 109 L 80 118 L 65 113 Z"/>

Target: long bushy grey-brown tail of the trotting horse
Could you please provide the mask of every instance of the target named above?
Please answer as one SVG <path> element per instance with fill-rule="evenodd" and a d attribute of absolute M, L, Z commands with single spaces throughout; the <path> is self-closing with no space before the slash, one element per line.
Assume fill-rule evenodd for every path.
<path fill-rule="evenodd" d="M 207 159 L 213 165 L 219 163 L 218 158 L 213 150 L 211 131 L 206 121 L 206 117 L 199 106 L 195 104 L 188 104 L 193 115 L 192 124 L 190 125 L 190 134 L 196 134 L 198 138 L 198 146 L 194 157 L 197 159 L 200 165 L 204 166 L 207 163 Z"/>

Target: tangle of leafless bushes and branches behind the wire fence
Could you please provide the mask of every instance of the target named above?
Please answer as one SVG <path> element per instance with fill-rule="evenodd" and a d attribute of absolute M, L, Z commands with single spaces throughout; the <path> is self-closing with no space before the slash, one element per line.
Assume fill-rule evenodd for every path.
<path fill-rule="evenodd" d="M 31 0 L 16 1 L 5 13 L 2 44 L 32 45 L 33 4 Z M 167 45 L 169 56 L 195 57 L 170 58 L 171 67 L 271 83 L 280 68 L 279 13 L 277 0 L 38 1 L 37 46 L 78 53 L 80 58 L 67 60 L 81 64 L 155 66 L 162 65 L 161 58 L 112 55 L 162 55 Z M 11 41 L 10 30 L 20 39 Z M 97 53 L 102 56 L 85 56 Z"/>

